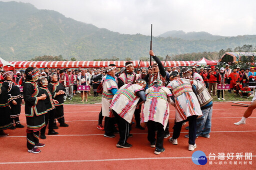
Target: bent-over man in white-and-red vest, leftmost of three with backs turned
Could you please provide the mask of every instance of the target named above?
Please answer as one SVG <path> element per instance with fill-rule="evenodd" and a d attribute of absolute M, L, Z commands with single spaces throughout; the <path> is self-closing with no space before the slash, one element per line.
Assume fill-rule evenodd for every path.
<path fill-rule="evenodd" d="M 138 80 L 136 84 L 124 84 L 113 96 L 110 109 L 112 109 L 120 134 L 120 139 L 116 144 L 117 148 L 132 146 L 127 143 L 130 123 L 139 99 L 145 101 L 145 86 L 144 80 Z"/>

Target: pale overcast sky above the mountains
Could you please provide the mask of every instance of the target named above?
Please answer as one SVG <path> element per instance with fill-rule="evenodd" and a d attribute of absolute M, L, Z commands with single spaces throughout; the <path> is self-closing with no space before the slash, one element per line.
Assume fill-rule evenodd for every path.
<path fill-rule="evenodd" d="M 11 1 L 11 0 L 2 0 Z M 256 34 L 256 0 L 15 0 L 125 34 L 170 30 Z"/>

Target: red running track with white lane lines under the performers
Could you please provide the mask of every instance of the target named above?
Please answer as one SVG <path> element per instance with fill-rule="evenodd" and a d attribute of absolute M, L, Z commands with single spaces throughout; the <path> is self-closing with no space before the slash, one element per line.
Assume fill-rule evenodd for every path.
<path fill-rule="evenodd" d="M 248 103 L 248 102 L 247 102 Z M 147 130 L 139 130 L 132 125 L 132 138 L 129 149 L 116 148 L 116 138 L 103 137 L 103 131 L 96 129 L 98 113 L 101 105 L 64 105 L 65 121 L 69 127 L 59 127 L 59 135 L 46 136 L 41 143 L 41 153 L 31 154 L 26 149 L 25 128 L 5 130 L 8 137 L 0 138 L 0 170 L 18 169 L 54 169 L 54 170 L 170 170 L 170 169 L 255 169 L 256 168 L 256 115 L 252 113 L 245 125 L 236 126 L 233 123 L 240 120 L 245 107 L 231 106 L 231 102 L 216 102 L 213 104 L 212 128 L 210 138 L 196 139 L 197 148 L 194 151 L 205 153 L 208 162 L 204 166 L 195 165 L 188 151 L 188 139 L 185 126 L 182 127 L 178 145 L 172 145 L 164 139 L 165 152 L 153 154 L 147 141 Z M 22 111 L 24 108 L 22 107 Z M 21 124 L 25 125 L 24 111 L 20 115 Z M 170 135 L 174 122 L 174 108 L 170 108 Z M 47 132 L 47 130 L 46 130 Z M 220 153 L 227 156 L 233 154 L 233 160 L 227 157 L 217 157 Z M 236 159 L 236 153 L 243 157 Z M 245 153 L 251 157 L 245 156 Z M 209 154 L 215 154 L 215 160 L 209 160 Z M 221 160 L 222 159 L 222 160 Z M 224 160 L 223 160 L 224 159 Z M 241 160 L 242 159 L 242 160 Z M 245 160 L 246 159 L 246 160 Z M 251 159 L 251 160 L 250 160 Z M 237 165 L 234 165 L 236 162 Z M 212 165 L 211 165 L 212 164 Z M 231 164 L 231 165 L 230 165 Z"/>

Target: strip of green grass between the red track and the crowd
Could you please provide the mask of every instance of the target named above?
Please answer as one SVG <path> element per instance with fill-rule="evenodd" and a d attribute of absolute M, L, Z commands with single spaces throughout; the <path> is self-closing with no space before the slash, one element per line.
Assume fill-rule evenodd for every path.
<path fill-rule="evenodd" d="M 100 103 L 101 102 L 101 94 L 99 94 L 97 97 L 93 96 L 93 91 L 90 91 L 91 95 L 88 95 L 88 99 L 87 102 L 82 103 L 81 102 L 81 94 L 77 93 L 75 96 L 73 96 L 72 100 L 69 101 L 68 99 L 64 102 L 64 104 L 94 104 L 94 103 Z M 217 95 L 217 94 L 216 94 Z M 213 101 L 214 102 L 222 102 L 223 100 L 218 100 L 217 96 L 212 96 Z M 220 98 L 221 98 L 221 94 L 220 94 Z M 246 97 L 240 98 L 239 96 L 235 96 L 234 93 L 228 93 L 227 90 L 225 90 L 224 92 L 224 98 L 225 101 L 251 101 L 252 97 L 250 97 L 249 99 L 247 99 Z"/>

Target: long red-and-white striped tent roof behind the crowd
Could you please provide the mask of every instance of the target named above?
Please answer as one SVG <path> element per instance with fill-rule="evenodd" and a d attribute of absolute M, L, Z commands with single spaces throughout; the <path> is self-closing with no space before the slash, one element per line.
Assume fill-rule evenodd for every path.
<path fill-rule="evenodd" d="M 11 61 L 14 68 L 98 68 L 107 67 L 109 64 L 115 64 L 116 67 L 124 67 L 126 61 Z M 139 61 L 133 61 L 133 65 L 136 67 Z M 166 61 L 164 67 L 174 66 L 192 66 L 196 61 Z M 162 61 L 162 64 L 164 62 Z M 148 67 L 149 61 L 141 61 L 140 67 Z"/>

